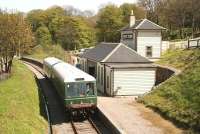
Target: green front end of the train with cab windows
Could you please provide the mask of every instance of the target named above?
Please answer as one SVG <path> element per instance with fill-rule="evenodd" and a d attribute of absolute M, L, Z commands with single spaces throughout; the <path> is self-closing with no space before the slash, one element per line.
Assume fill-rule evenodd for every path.
<path fill-rule="evenodd" d="M 65 106 L 70 111 L 91 111 L 97 106 L 96 81 L 66 84 Z"/>

